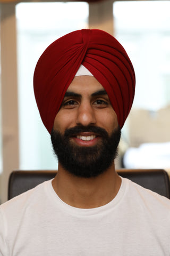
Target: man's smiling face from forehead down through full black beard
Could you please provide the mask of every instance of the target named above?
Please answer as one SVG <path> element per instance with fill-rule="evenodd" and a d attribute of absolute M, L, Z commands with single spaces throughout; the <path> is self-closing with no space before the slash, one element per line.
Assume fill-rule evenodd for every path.
<path fill-rule="evenodd" d="M 121 131 L 104 87 L 93 76 L 74 77 L 51 134 L 65 170 L 95 177 L 112 165 Z"/>

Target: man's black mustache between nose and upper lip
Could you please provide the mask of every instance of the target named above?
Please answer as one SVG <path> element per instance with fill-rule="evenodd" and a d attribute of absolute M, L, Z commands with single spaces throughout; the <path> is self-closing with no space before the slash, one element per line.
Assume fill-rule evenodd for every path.
<path fill-rule="evenodd" d="M 71 137 L 73 135 L 76 135 L 81 132 L 94 132 L 100 135 L 101 137 L 106 137 L 108 138 L 108 133 L 106 132 L 105 129 L 98 127 L 98 126 L 74 126 L 72 128 L 66 129 L 64 132 L 65 137 Z"/>

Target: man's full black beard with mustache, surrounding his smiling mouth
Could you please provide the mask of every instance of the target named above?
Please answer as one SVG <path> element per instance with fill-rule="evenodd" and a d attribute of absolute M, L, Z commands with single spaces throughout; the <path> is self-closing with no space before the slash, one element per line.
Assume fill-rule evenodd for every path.
<path fill-rule="evenodd" d="M 94 132 L 101 136 L 101 140 L 95 146 L 81 147 L 70 140 L 75 134 L 81 132 Z M 117 156 L 118 143 L 121 138 L 121 129 L 108 135 L 105 129 L 96 126 L 76 126 L 66 129 L 64 135 L 52 130 L 51 140 L 58 162 L 64 170 L 77 177 L 97 177 L 105 172 Z"/>

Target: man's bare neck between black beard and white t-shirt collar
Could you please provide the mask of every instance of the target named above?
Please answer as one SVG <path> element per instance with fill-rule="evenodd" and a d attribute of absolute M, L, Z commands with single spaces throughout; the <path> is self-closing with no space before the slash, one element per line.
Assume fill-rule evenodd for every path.
<path fill-rule="evenodd" d="M 58 164 L 58 172 L 52 181 L 56 194 L 74 207 L 89 209 L 112 201 L 121 186 L 121 178 L 112 166 L 95 178 L 79 178 L 65 171 Z"/>

